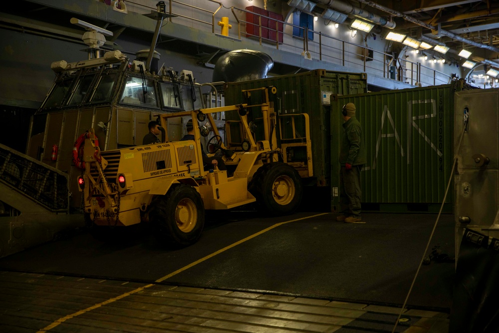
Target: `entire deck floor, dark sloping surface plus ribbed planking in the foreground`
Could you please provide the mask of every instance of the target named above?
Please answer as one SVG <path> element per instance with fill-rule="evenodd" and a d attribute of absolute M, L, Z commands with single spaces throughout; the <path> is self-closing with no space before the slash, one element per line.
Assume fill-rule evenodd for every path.
<path fill-rule="evenodd" d="M 0 259 L 0 332 L 390 333 L 435 215 L 363 218 L 217 216 L 176 251 L 69 235 Z M 432 244 L 453 240 L 445 216 Z M 395 332 L 448 332 L 452 274 L 422 267 Z"/>

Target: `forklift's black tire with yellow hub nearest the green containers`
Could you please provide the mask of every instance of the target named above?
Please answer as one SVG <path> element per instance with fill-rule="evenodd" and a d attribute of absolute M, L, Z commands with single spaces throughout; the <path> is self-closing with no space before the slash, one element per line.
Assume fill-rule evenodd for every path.
<path fill-rule="evenodd" d="M 271 215 L 293 213 L 303 196 L 300 175 L 282 162 L 268 163 L 256 170 L 248 188 L 258 208 Z"/>

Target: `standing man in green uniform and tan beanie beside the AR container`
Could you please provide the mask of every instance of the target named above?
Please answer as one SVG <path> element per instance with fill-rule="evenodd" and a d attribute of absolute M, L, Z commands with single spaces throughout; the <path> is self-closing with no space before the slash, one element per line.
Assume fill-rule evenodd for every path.
<path fill-rule="evenodd" d="M 360 170 L 367 162 L 362 127 L 355 117 L 355 110 L 353 103 L 345 104 L 341 110 L 344 121 L 339 158 L 341 214 L 336 217 L 336 221 L 345 221 L 345 223 L 361 221 Z"/>

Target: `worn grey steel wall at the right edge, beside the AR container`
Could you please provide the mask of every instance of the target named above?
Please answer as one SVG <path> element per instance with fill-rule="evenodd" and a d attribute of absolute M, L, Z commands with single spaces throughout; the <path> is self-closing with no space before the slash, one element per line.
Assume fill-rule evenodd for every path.
<path fill-rule="evenodd" d="M 465 228 L 499 238 L 499 89 L 480 89 L 456 93 L 454 121 L 457 151 L 456 183 L 456 254 Z M 463 133 L 464 109 L 469 110 L 467 131 Z M 482 164 L 475 154 L 489 158 Z M 468 217 L 469 223 L 460 222 Z"/>

